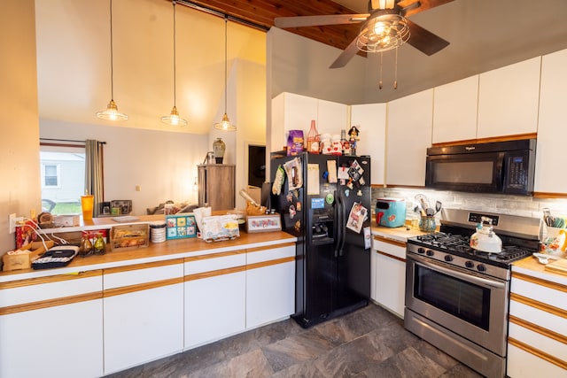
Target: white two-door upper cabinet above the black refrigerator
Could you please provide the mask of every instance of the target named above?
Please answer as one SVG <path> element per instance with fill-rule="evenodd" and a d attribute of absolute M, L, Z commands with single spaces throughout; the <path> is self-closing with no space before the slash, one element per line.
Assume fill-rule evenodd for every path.
<path fill-rule="evenodd" d="M 282 150 L 289 130 L 307 132 L 315 120 L 319 134 L 340 135 L 348 126 L 348 106 L 314 97 L 283 92 L 272 99 L 271 151 Z"/>

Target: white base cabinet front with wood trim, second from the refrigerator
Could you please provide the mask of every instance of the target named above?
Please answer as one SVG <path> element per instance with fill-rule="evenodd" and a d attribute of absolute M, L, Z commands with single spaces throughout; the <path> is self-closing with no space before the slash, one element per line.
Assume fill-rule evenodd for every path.
<path fill-rule="evenodd" d="M 245 330 L 245 251 L 185 258 L 185 349 Z"/>

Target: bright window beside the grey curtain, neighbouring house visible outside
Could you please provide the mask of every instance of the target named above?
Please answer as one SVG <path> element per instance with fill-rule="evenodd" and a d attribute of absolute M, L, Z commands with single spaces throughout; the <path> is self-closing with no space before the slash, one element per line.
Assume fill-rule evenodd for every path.
<path fill-rule="evenodd" d="M 42 212 L 81 213 L 85 191 L 85 149 L 82 146 L 40 145 Z"/>

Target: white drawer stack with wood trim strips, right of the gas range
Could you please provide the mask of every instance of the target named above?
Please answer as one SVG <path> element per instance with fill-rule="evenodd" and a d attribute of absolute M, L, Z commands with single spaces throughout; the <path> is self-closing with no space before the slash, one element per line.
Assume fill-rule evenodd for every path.
<path fill-rule="evenodd" d="M 567 377 L 567 286 L 512 267 L 510 292 L 509 377 Z"/>

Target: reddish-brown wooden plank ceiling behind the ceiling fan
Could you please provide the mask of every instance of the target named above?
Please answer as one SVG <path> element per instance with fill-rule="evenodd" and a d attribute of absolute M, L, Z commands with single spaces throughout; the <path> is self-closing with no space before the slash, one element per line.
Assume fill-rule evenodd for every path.
<path fill-rule="evenodd" d="M 265 30 L 274 26 L 276 17 L 359 13 L 331 0 L 178 0 L 177 3 L 198 5 L 234 19 L 243 19 Z M 344 50 L 356 38 L 360 28 L 360 25 L 354 24 L 285 30 Z"/>

